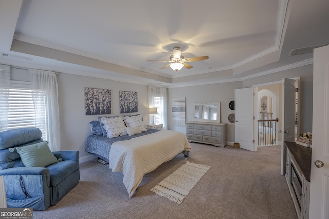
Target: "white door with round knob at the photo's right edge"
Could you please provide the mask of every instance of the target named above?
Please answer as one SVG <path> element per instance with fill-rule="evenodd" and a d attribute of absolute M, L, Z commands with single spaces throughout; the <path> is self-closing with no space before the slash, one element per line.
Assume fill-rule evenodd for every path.
<path fill-rule="evenodd" d="M 314 49 L 313 57 L 309 218 L 329 218 L 329 46 Z M 315 161 L 322 161 L 324 166 L 317 168 Z"/>

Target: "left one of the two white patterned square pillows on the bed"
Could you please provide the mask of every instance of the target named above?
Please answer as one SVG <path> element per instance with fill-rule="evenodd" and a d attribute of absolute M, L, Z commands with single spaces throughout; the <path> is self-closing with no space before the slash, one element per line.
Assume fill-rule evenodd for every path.
<path fill-rule="evenodd" d="M 103 127 L 107 132 L 107 137 L 118 137 L 122 135 L 126 135 L 127 132 L 125 130 L 125 125 L 123 122 L 123 118 L 119 117 L 102 117 L 101 123 L 103 123 Z"/>

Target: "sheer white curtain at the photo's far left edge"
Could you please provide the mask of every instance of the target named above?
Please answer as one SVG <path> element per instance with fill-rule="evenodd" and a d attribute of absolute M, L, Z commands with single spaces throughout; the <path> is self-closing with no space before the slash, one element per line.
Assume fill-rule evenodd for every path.
<path fill-rule="evenodd" d="M 0 65 L 0 131 L 8 129 L 10 66 Z"/>

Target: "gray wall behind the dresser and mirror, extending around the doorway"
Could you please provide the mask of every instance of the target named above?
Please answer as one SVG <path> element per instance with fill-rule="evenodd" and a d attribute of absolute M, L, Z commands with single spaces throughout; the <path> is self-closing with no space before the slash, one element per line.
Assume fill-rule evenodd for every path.
<path fill-rule="evenodd" d="M 178 87 L 178 90 L 177 88 L 170 88 L 168 89 L 168 129 L 186 133 L 185 127 L 172 126 L 172 97 L 186 97 L 186 121 L 192 120 L 195 102 L 221 102 L 221 123 L 227 124 L 226 141 L 234 142 L 234 123 L 228 121 L 228 115 L 234 113 L 228 107 L 229 102 L 234 99 L 234 90 L 282 81 L 284 77 L 301 77 L 300 132 L 312 132 L 313 65 L 255 77 L 243 82 Z"/>

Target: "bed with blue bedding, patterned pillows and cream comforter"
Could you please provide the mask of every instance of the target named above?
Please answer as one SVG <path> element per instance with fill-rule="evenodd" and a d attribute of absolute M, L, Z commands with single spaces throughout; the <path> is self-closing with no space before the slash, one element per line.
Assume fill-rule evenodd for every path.
<path fill-rule="evenodd" d="M 113 117 L 107 118 L 112 120 Z M 121 121 L 121 118 L 115 118 Z M 104 129 L 109 132 L 111 130 L 102 123 L 105 121 L 101 117 L 99 117 L 99 121 L 90 122 L 92 135 L 87 137 L 86 151 L 108 161 L 109 168 L 113 172 L 122 172 L 124 186 L 129 197 L 132 197 L 145 174 L 152 172 L 162 163 L 171 160 L 180 153 L 182 153 L 182 158 L 187 158 L 191 146 L 186 136 L 181 132 L 146 129 L 140 122 L 140 131 L 132 134 L 128 130 L 138 130 L 136 127 L 139 125 L 129 123 L 130 119 L 126 116 L 122 117 L 122 121 L 123 118 L 125 118 L 124 127 L 118 127 L 118 123 L 112 127 L 114 132 L 118 129 L 122 132 L 116 137 L 108 137 L 108 132 L 103 132 Z M 134 116 L 133 120 L 140 120 L 140 118 Z M 128 133 L 124 134 L 123 129 L 126 129 Z"/>

